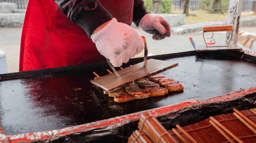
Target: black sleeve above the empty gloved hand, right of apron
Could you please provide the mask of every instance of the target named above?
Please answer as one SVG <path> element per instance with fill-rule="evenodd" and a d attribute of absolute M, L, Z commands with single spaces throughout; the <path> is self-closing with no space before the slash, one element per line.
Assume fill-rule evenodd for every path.
<path fill-rule="evenodd" d="M 138 26 L 139 21 L 141 18 L 149 13 L 145 6 L 144 6 L 144 1 L 143 0 L 134 0 L 134 8 L 133 8 L 133 23 Z"/>

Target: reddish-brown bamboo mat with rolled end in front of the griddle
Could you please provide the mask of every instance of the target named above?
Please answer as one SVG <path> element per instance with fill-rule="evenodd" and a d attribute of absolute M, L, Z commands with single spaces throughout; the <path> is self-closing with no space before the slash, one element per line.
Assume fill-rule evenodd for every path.
<path fill-rule="evenodd" d="M 166 130 L 160 122 L 149 113 L 141 115 L 137 136 L 149 140 L 138 143 L 256 143 L 256 109 L 238 111 L 210 117 L 195 124 Z M 138 133 L 139 132 L 139 133 Z M 131 135 L 130 138 L 136 138 Z M 132 139 L 129 143 L 136 142 Z"/>

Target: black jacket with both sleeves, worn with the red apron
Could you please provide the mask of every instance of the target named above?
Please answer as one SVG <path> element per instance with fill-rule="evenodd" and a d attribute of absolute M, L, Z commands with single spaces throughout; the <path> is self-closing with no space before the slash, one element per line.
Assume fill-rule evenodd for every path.
<path fill-rule="evenodd" d="M 53 0 L 68 18 L 80 25 L 87 35 L 101 24 L 111 20 L 111 13 L 104 8 L 99 0 Z M 117 11 L 118 12 L 118 11 Z M 133 22 L 138 26 L 140 19 L 149 12 L 143 0 L 134 0 Z"/>

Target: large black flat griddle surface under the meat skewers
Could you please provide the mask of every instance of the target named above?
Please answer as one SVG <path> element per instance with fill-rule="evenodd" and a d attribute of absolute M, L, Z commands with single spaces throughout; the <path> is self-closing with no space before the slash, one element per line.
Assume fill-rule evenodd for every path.
<path fill-rule="evenodd" d="M 184 86 L 162 97 L 115 103 L 90 80 L 107 63 L 1 74 L 0 117 L 6 135 L 49 131 L 256 87 L 256 58 L 239 51 L 183 52 L 151 56 L 179 63 L 162 72 Z M 122 67 L 143 61 L 131 59 Z"/>

